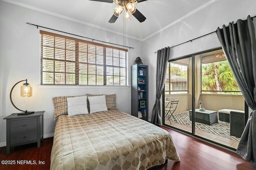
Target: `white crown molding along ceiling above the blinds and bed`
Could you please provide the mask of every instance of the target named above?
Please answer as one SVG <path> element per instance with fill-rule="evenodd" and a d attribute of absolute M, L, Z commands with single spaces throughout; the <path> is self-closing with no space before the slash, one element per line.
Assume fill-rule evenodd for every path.
<path fill-rule="evenodd" d="M 61 15 L 61 14 L 57 14 L 57 13 L 54 13 L 54 12 L 50 12 L 50 11 L 48 11 L 48 10 L 43 10 L 43 9 L 41 9 L 41 8 L 37 8 L 37 7 L 34 7 L 34 6 L 30 6 L 30 5 L 21 3 L 21 2 L 16 2 L 16 1 L 14 1 L 14 0 L 0 0 L 0 1 L 4 1 L 4 2 L 10 3 L 10 4 L 14 4 L 14 5 L 17 5 L 17 6 L 22 6 L 22 7 L 24 7 L 24 8 L 28 8 L 28 9 L 35 10 L 35 11 L 38 11 L 38 12 L 42 12 L 42 13 L 45 13 L 45 14 L 49 14 L 49 15 L 52 15 L 52 16 L 56 16 L 56 17 L 58 17 L 58 18 L 63 18 L 63 19 L 65 19 L 65 20 L 73 21 L 73 22 L 76 22 L 76 23 L 81 23 L 81 24 L 83 24 L 83 25 L 87 25 L 87 26 L 90 26 L 90 27 L 94 27 L 94 28 L 97 28 L 97 29 L 101 29 L 101 30 L 103 30 L 103 31 L 108 31 L 108 32 L 111 32 L 111 33 L 114 33 L 114 34 L 117 34 L 117 35 L 122 35 L 122 36 L 124 36 L 123 33 L 116 32 L 116 31 L 112 31 L 111 29 L 106 29 L 106 28 L 100 27 L 100 26 L 98 26 L 98 25 L 94 25 L 94 24 L 91 24 L 91 23 L 87 23 L 87 22 L 84 22 L 84 21 L 81 21 L 81 20 L 76 20 L 76 19 L 71 18 L 71 17 L 68 17 L 68 16 L 64 16 L 64 15 Z M 142 41 L 142 39 L 139 39 L 139 38 L 134 37 L 134 36 L 126 35 L 126 37 L 131 38 L 131 39 L 136 39 L 136 40 L 138 40 L 138 41 Z"/>

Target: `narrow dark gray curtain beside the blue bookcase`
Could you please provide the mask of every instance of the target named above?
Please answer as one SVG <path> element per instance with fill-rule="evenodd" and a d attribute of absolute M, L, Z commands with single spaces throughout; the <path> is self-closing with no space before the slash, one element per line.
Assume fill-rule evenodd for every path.
<path fill-rule="evenodd" d="M 152 110 L 151 123 L 154 125 L 162 125 L 161 119 L 161 107 L 160 107 L 160 96 L 164 90 L 164 81 L 166 76 L 166 69 L 168 64 L 168 58 L 170 55 L 170 48 L 165 47 L 157 51 L 156 60 L 156 102 Z"/>

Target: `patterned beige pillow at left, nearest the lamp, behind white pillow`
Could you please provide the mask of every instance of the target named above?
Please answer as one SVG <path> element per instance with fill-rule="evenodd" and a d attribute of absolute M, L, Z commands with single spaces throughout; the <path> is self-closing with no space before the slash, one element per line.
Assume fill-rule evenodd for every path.
<path fill-rule="evenodd" d="M 56 120 L 60 115 L 68 114 L 68 101 L 67 98 L 72 98 L 76 96 L 58 96 L 53 97 L 52 102 L 54 106 L 53 120 Z"/>

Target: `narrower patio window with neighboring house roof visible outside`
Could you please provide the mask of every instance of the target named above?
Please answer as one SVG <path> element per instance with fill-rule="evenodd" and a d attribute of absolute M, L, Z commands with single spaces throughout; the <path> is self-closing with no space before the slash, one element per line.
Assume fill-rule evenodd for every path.
<path fill-rule="evenodd" d="M 188 94 L 188 64 L 189 59 L 168 63 L 165 94 Z"/>

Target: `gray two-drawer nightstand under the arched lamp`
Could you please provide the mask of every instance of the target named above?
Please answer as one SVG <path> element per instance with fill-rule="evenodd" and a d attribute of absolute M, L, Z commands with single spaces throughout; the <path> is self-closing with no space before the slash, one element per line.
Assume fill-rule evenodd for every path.
<path fill-rule="evenodd" d="M 37 142 L 41 146 L 44 129 L 44 111 L 35 111 L 29 115 L 16 113 L 4 117 L 6 119 L 6 154 L 10 154 L 10 147 Z"/>

